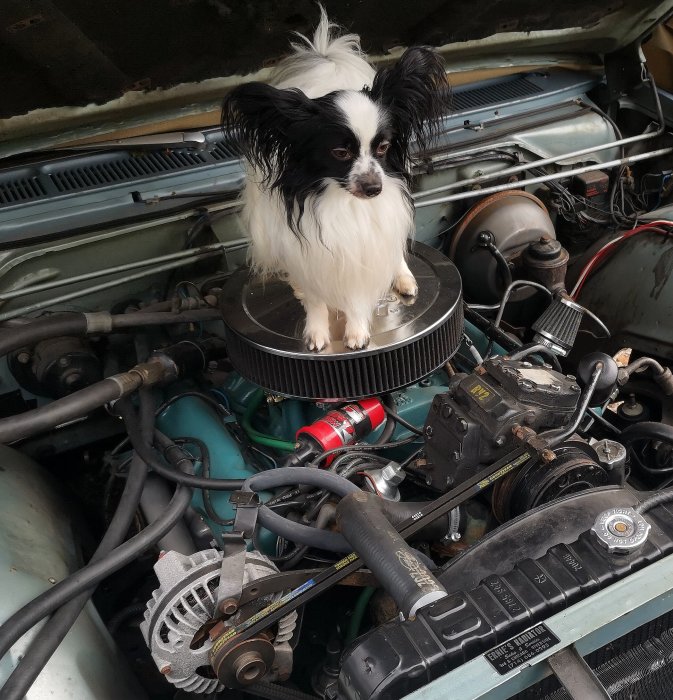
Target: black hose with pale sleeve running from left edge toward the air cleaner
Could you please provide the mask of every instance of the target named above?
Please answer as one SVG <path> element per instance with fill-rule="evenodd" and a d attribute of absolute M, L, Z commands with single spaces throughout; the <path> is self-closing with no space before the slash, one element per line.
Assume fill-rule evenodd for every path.
<path fill-rule="evenodd" d="M 102 335 L 115 330 L 175 323 L 197 323 L 221 318 L 217 309 L 195 309 L 181 313 L 137 311 L 130 314 L 104 314 L 104 323 L 92 323 L 96 314 L 58 314 L 25 325 L 0 328 L 0 357 L 19 348 L 31 347 L 41 340 L 58 336 Z"/>

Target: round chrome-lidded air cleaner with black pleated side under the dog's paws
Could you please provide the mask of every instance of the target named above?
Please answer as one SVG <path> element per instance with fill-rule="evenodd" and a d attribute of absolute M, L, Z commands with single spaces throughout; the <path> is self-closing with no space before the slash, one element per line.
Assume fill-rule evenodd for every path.
<path fill-rule="evenodd" d="M 304 310 L 287 283 L 236 273 L 222 295 L 232 364 L 269 391 L 303 399 L 357 399 L 417 382 L 460 345 L 462 286 L 454 264 L 429 246 L 414 244 L 409 266 L 418 296 L 381 300 L 367 348 L 345 348 L 344 319 L 332 314 L 333 340 L 319 353 L 304 345 Z"/>

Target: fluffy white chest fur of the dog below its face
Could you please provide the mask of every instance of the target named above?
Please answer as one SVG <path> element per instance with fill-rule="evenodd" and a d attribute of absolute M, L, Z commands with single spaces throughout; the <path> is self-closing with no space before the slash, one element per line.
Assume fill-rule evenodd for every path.
<path fill-rule="evenodd" d="M 249 182 L 244 215 L 254 266 L 265 274 L 287 273 L 304 299 L 317 297 L 349 318 L 369 318 L 404 260 L 413 227 L 405 189 L 386 176 L 381 194 L 363 199 L 329 182 L 306 201 L 303 236 L 297 236 L 279 195 Z"/>

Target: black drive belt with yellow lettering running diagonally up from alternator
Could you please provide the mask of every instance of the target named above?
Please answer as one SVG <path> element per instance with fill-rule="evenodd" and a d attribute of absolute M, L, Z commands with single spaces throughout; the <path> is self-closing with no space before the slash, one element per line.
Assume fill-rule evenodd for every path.
<path fill-rule="evenodd" d="M 520 448 L 510 452 L 502 459 L 477 473 L 471 479 L 464 481 L 460 486 L 451 489 L 451 491 L 434 501 L 428 501 L 427 505 L 420 508 L 414 515 L 400 525 L 398 528 L 399 533 L 405 539 L 408 539 L 440 515 L 448 513 L 467 499 L 477 495 L 503 476 L 506 476 L 528 462 L 535 455 L 536 452 L 532 448 Z M 316 596 L 320 595 L 324 590 L 357 571 L 361 566 L 362 562 L 358 555 L 352 552 L 332 566 L 320 570 L 319 573 L 309 578 L 308 581 L 291 590 L 289 593 L 286 593 L 277 601 L 255 613 L 247 620 L 244 620 L 235 627 L 226 629 L 213 640 L 213 646 L 210 652 L 211 657 L 215 654 L 220 655 L 229 644 L 238 645 L 247 639 L 255 637 L 288 613 L 305 605 Z"/>

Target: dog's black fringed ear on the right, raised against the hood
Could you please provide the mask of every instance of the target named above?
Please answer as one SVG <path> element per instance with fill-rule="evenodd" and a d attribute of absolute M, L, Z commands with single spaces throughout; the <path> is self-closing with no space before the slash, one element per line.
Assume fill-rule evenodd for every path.
<path fill-rule="evenodd" d="M 376 73 L 371 96 L 390 113 L 404 150 L 412 137 L 423 150 L 436 135 L 439 118 L 450 107 L 444 62 L 430 49 L 407 49 L 394 66 Z"/>

